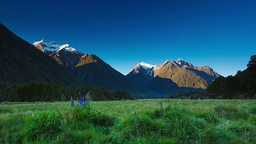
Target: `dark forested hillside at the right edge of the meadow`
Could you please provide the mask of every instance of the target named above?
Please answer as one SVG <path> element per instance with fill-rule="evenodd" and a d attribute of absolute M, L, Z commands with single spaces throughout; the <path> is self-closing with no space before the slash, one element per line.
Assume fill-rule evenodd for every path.
<path fill-rule="evenodd" d="M 219 76 L 207 90 L 209 98 L 256 98 L 256 55 L 251 56 L 246 70 L 238 70 L 235 76 Z"/>

